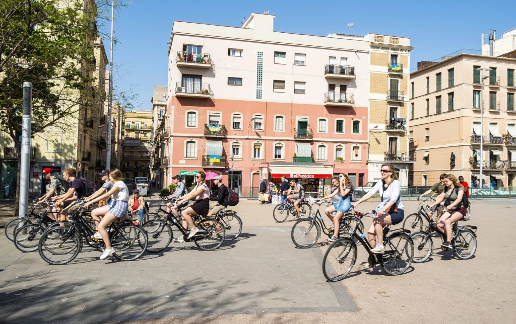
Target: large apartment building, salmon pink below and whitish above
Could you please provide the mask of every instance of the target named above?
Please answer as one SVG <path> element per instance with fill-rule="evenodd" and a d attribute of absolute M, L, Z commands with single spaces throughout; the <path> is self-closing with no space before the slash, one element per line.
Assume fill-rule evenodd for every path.
<path fill-rule="evenodd" d="M 264 163 L 269 178 L 312 179 L 303 180 L 308 191 L 341 172 L 355 185 L 368 181 L 369 42 L 277 32 L 274 19 L 174 22 L 165 184 L 215 171 L 245 195 L 259 186 Z"/>

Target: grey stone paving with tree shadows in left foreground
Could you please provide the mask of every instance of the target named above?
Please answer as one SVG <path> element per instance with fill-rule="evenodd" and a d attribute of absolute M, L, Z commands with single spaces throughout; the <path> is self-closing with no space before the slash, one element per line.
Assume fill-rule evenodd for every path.
<path fill-rule="evenodd" d="M 321 276 L 320 249 L 296 249 L 289 227 L 246 227 L 215 251 L 172 243 L 133 262 L 84 248 L 51 266 L 0 236 L 0 321 L 87 322 L 261 312 L 356 311 L 340 283 Z"/>

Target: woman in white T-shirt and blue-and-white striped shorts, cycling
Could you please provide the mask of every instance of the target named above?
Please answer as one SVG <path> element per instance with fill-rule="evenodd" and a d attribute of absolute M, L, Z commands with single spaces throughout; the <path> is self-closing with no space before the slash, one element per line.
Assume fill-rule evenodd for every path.
<path fill-rule="evenodd" d="M 115 253 L 115 249 L 111 246 L 111 242 L 109 241 L 109 234 L 106 231 L 106 227 L 113 223 L 117 218 L 120 218 L 127 213 L 127 201 L 129 200 L 130 195 L 127 186 L 122 180 L 122 172 L 119 169 L 111 170 L 109 173 L 109 181 L 114 183 L 111 190 L 85 204 L 85 207 L 88 208 L 97 201 L 112 197 L 111 202 L 109 203 L 109 210 L 100 221 L 100 224 L 97 227 L 98 232 L 93 235 L 95 238 L 102 238 L 106 245 L 106 250 L 100 257 L 101 260 L 104 260 L 109 257 L 109 255 Z"/>

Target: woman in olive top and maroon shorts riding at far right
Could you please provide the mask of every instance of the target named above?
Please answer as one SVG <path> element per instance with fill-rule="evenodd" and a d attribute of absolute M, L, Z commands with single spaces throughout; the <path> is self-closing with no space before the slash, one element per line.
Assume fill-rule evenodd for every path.
<path fill-rule="evenodd" d="M 444 200 L 446 211 L 441 215 L 437 223 L 437 230 L 446 234 L 446 241 L 441 246 L 451 248 L 451 224 L 462 219 L 466 210 L 462 206 L 464 187 L 453 174 L 447 174 L 443 180 L 444 191 L 437 197 L 431 208 L 438 206 Z"/>

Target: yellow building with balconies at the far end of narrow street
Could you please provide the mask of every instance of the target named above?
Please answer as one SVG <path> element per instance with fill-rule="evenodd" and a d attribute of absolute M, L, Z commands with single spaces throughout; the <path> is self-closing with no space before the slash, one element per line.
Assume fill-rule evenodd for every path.
<path fill-rule="evenodd" d="M 120 168 L 125 179 L 150 177 L 152 111 L 126 112 L 123 125 L 124 145 Z"/>

